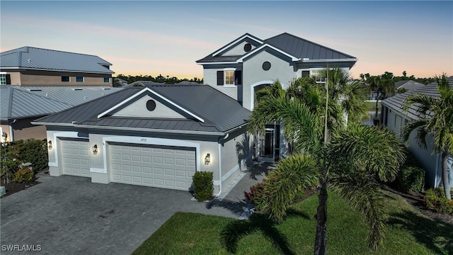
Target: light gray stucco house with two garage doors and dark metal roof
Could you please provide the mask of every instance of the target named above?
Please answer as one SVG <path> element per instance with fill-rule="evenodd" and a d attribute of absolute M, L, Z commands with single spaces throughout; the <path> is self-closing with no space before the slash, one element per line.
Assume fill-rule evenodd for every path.
<path fill-rule="evenodd" d="M 357 59 L 284 33 L 243 35 L 197 61 L 204 85 L 137 81 L 120 91 L 35 120 L 45 125 L 52 176 L 187 191 L 195 171 L 214 173 L 214 194 L 234 183 L 251 159 L 285 156 L 280 123 L 247 132 L 258 89 Z"/>

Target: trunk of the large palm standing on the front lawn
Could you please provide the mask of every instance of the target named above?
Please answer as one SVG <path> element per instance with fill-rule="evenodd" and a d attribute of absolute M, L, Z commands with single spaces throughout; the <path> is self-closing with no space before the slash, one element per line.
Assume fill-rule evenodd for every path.
<path fill-rule="evenodd" d="M 326 254 L 327 235 L 327 181 L 323 181 L 319 191 L 319 205 L 316 212 L 316 238 L 314 244 L 315 255 Z"/>

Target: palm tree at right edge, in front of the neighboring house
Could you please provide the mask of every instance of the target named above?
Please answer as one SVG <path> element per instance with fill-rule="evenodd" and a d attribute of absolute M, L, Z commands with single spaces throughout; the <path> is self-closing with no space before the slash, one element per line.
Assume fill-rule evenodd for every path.
<path fill-rule="evenodd" d="M 442 156 L 442 183 L 445 196 L 451 200 L 448 156 L 453 154 L 453 87 L 449 86 L 446 74 L 442 74 L 442 77 L 436 77 L 436 79 L 438 97 L 412 94 L 403 102 L 404 111 L 408 111 L 411 106 L 417 108 L 418 119 L 408 122 L 401 135 L 404 140 L 408 141 L 411 133 L 417 130 L 415 139 L 423 149 L 427 148 L 427 135 L 432 135 L 434 138 L 432 152 L 440 153 Z"/>

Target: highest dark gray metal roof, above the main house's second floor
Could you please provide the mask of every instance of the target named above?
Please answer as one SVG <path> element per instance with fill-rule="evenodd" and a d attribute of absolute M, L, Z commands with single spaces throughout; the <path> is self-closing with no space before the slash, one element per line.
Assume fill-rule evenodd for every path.
<path fill-rule="evenodd" d="M 249 34 L 246 34 L 246 35 L 253 37 L 253 35 L 249 35 Z M 239 37 L 239 38 L 241 38 L 241 37 Z M 256 37 L 253 37 L 253 38 L 256 38 Z M 260 40 L 259 38 L 256 38 L 256 39 Z M 234 42 L 236 40 L 233 40 L 232 42 Z M 329 47 L 319 45 L 319 44 L 317 44 L 315 42 L 311 42 L 309 40 L 299 38 L 299 37 L 297 37 L 295 35 L 291 35 L 289 33 L 282 33 L 282 34 L 276 35 L 272 38 L 268 38 L 266 40 L 263 40 L 263 44 L 264 43 L 271 45 L 273 47 L 276 47 L 277 49 L 279 49 L 282 52 L 285 52 L 289 55 L 300 58 L 301 60 L 303 60 L 304 58 L 305 59 L 308 58 L 309 60 L 356 59 L 355 57 L 352 57 L 351 55 L 345 54 L 343 52 L 339 52 L 338 50 L 333 50 Z M 231 44 L 231 42 L 229 44 Z M 227 45 L 229 45 L 229 44 L 227 44 Z M 249 52 L 247 52 L 246 54 L 248 54 L 248 53 Z M 246 55 L 246 54 L 244 54 L 244 55 Z M 203 57 L 201 60 L 197 60 L 196 62 L 198 62 L 198 63 L 236 62 L 236 60 L 239 60 L 239 58 L 241 58 L 241 57 L 243 57 L 243 55 L 241 55 L 241 56 L 222 56 L 222 55 L 212 56 L 212 54 L 210 54 L 210 55 L 207 55 L 206 57 Z"/>

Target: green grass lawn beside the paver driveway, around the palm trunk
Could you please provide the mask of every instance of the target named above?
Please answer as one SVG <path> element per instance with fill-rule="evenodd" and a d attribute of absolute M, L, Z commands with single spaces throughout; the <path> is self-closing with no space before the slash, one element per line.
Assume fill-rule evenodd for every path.
<path fill-rule="evenodd" d="M 430 220 L 389 193 L 389 228 L 377 251 L 367 247 L 367 225 L 345 200 L 328 198 L 328 254 L 453 254 L 453 225 Z M 177 212 L 134 254 L 313 254 L 318 196 L 292 205 L 280 224 Z"/>

